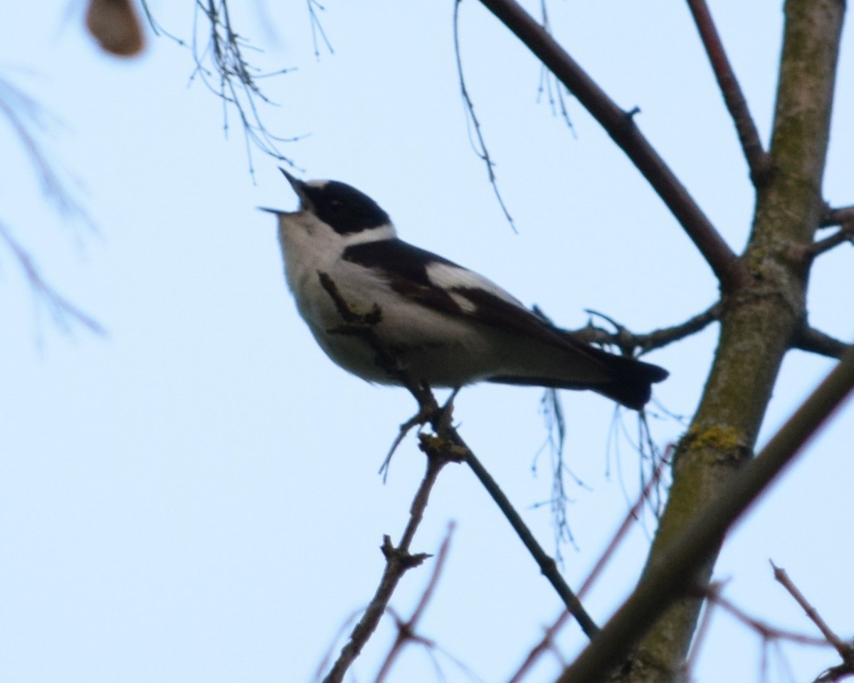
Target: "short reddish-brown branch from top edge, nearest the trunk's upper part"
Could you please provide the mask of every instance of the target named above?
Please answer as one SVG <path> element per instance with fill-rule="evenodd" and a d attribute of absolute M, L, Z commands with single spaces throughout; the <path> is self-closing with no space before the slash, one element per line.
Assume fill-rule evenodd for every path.
<path fill-rule="evenodd" d="M 747 166 L 753 184 L 757 187 L 768 177 L 770 170 L 769 155 L 763 149 L 759 140 L 756 124 L 747 108 L 744 94 L 741 92 L 738 79 L 735 78 L 732 65 L 729 63 L 726 51 L 723 49 L 721 37 L 711 18 L 709 7 L 705 0 L 687 0 L 694 23 L 697 25 L 699 37 L 703 41 L 705 52 L 709 55 L 711 69 L 715 73 L 717 85 L 721 89 L 723 102 L 729 115 L 733 118 L 735 131 L 738 133 L 741 149 L 744 151 Z"/>

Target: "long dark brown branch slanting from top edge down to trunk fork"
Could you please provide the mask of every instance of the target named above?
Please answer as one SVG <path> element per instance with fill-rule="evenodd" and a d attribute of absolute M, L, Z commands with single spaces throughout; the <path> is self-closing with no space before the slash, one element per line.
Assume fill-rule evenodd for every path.
<path fill-rule="evenodd" d="M 578 66 L 558 42 L 515 0 L 481 2 L 554 73 L 629 156 L 711 266 L 722 290 L 731 292 L 745 283 L 748 277 L 745 266 L 723 241 L 670 167 L 640 133 L 632 113 L 618 108 L 582 67 Z"/>

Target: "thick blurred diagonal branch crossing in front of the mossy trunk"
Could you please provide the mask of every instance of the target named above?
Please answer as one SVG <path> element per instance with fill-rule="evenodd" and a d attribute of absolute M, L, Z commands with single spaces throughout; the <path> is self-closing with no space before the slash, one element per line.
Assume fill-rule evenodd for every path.
<path fill-rule="evenodd" d="M 632 646 L 659 616 L 692 587 L 694 572 L 724 534 L 815 436 L 854 388 L 854 347 L 810 394 L 757 458 L 744 464 L 722 495 L 693 517 L 647 567 L 635 591 L 559 678 L 559 683 L 597 683 L 623 663 Z"/>

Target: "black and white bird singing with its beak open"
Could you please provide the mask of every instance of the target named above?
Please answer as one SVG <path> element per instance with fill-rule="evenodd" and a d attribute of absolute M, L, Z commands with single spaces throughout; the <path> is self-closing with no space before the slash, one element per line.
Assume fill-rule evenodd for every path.
<path fill-rule="evenodd" d="M 389 214 L 350 185 L 280 170 L 300 199 L 292 213 L 265 209 L 278 216 L 285 277 L 314 338 L 344 370 L 400 384 L 377 362 L 371 343 L 379 343 L 407 377 L 434 388 L 591 389 L 635 410 L 667 377 L 657 365 L 578 341 L 486 277 L 403 242 Z M 372 341 L 342 333 L 342 306 L 377 313 Z"/>

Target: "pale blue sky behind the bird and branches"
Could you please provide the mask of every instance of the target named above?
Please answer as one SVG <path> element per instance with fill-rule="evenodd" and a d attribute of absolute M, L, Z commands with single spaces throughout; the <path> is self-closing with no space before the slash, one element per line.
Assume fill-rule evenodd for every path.
<path fill-rule="evenodd" d="M 537 3 L 533 3 L 536 5 Z M 779 51 L 779 3 L 712 10 L 767 137 Z M 284 7 L 284 9 L 282 9 Z M 713 301 L 703 260 L 640 174 L 570 98 L 575 134 L 536 102 L 538 67 L 477 3 L 461 9 L 474 98 L 518 235 L 502 219 L 472 154 L 453 56 L 452 3 L 326 3 L 335 54 L 313 58 L 304 3 L 232 8 L 262 46 L 263 81 L 278 108 L 272 130 L 307 135 L 284 149 L 307 178 L 365 190 L 402 236 L 483 272 L 572 327 L 594 308 L 642 331 L 674 324 Z M 190 37 L 191 3 L 153 2 L 171 32 Z M 681 176 L 734 248 L 752 214 L 751 188 L 687 10 L 673 3 L 551 5 L 560 39 Z M 723 14 L 732 12 L 732 14 Z M 0 126 L 0 219 L 38 257 L 45 277 L 97 318 L 107 336 L 64 336 L 39 312 L 15 261 L 0 251 L 0 680 L 308 680 L 338 628 L 370 598 L 383 534 L 397 538 L 423 467 L 412 438 L 383 486 L 377 467 L 413 411 L 402 390 L 375 388 L 332 365 L 295 312 L 272 217 L 295 197 L 277 164 L 254 152 L 200 83 L 190 53 L 149 34 L 133 62 L 99 53 L 65 2 L 10 3 L 0 68 L 56 114 L 39 139 L 72 178 L 96 225 L 63 225 L 39 194 L 26 155 Z M 746 15 L 746 13 L 752 13 Z M 825 194 L 854 201 L 854 58 L 844 45 Z M 76 185 L 75 185 L 76 183 Z M 854 336 L 851 248 L 822 257 L 810 316 Z M 715 342 L 707 330 L 654 353 L 670 379 L 670 412 L 696 406 Z M 764 435 L 832 363 L 792 353 Z M 477 387 L 457 400 L 460 431 L 547 548 L 545 438 L 536 389 Z M 626 445 L 609 457 L 612 407 L 564 394 L 577 550 L 564 548 L 577 586 L 625 514 L 638 482 Z M 851 419 L 825 435 L 728 542 L 717 576 L 744 609 L 809 632 L 771 579 L 786 567 L 832 625 L 850 627 Z M 626 418 L 633 429 L 631 416 Z M 653 420 L 674 441 L 681 426 Z M 620 472 L 622 471 L 622 481 Z M 559 604 L 499 513 L 462 468 L 442 475 L 413 549 L 436 552 L 457 522 L 446 574 L 421 633 L 484 680 L 505 680 Z M 648 521 L 647 521 L 648 522 Z M 604 622 L 645 557 L 635 530 L 588 600 Z M 395 597 L 406 614 L 428 570 Z M 391 629 L 356 667 L 371 680 Z M 577 629 L 561 641 L 567 657 Z M 699 680 L 758 676 L 758 639 L 720 616 Z M 835 663 L 796 651 L 796 680 Z M 465 680 L 453 666 L 448 680 Z M 546 659 L 531 680 L 549 680 Z M 773 669 L 772 680 L 781 679 Z M 434 680 L 411 651 L 393 680 Z"/>

